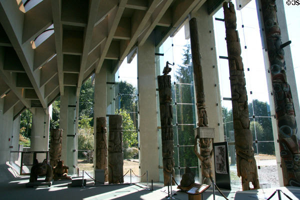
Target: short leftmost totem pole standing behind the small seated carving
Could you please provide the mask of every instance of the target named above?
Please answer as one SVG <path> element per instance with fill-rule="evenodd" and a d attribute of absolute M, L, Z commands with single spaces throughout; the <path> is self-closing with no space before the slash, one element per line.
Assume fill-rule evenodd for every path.
<path fill-rule="evenodd" d="M 60 128 L 50 129 L 50 164 L 52 167 L 57 165 L 61 157 L 62 131 Z"/>

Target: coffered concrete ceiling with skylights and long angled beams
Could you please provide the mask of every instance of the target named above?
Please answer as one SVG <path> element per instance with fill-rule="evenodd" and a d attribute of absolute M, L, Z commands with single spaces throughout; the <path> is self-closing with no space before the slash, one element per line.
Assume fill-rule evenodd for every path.
<path fill-rule="evenodd" d="M 152 32 L 160 45 L 204 2 L 0 0 L 3 111 L 46 109 L 64 86 L 76 86 L 79 95 L 90 74 L 104 65 L 116 71 Z"/>

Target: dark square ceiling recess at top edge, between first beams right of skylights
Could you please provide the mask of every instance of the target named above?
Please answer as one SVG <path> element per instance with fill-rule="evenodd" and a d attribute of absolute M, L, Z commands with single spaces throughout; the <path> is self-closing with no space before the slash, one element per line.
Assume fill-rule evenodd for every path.
<path fill-rule="evenodd" d="M 88 12 L 87 0 L 63 0 L 61 1 L 62 24 L 74 26 L 86 26 Z"/>

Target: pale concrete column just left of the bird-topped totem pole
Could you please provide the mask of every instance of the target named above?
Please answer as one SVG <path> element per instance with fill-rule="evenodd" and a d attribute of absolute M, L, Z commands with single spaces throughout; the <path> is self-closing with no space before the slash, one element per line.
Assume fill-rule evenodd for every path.
<path fill-rule="evenodd" d="M 158 135 L 155 84 L 155 46 L 152 35 L 137 49 L 139 93 L 139 173 L 148 170 L 148 179 L 159 180 Z M 145 181 L 143 176 L 141 181 Z"/>

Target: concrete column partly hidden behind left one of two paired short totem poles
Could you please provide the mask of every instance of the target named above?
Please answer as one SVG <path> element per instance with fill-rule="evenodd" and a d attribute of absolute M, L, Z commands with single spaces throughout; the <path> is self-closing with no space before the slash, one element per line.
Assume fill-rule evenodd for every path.
<path fill-rule="evenodd" d="M 106 66 L 102 66 L 99 73 L 95 73 L 94 91 L 94 149 L 96 149 L 97 117 L 106 117 Z M 94 150 L 93 167 L 96 167 L 96 151 Z"/>

